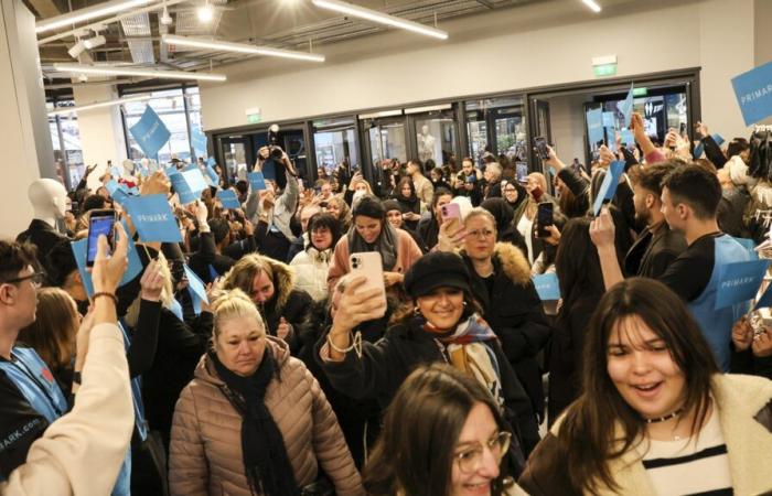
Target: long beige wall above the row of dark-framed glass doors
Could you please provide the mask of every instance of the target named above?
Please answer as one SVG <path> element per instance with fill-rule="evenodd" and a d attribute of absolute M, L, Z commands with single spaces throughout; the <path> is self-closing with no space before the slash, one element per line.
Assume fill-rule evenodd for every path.
<path fill-rule="evenodd" d="M 701 66 L 706 120 L 747 132 L 729 79 L 753 65 L 754 0 L 608 3 L 600 15 L 555 0 L 451 20 L 447 42 L 392 31 L 322 46 L 323 65 L 254 58 L 202 86 L 204 122 L 246 125 L 249 107 L 269 122 L 590 80 L 592 57 L 615 54 L 619 76 Z"/>

